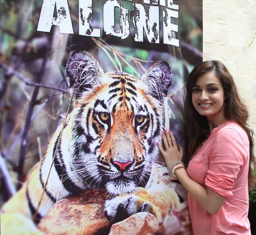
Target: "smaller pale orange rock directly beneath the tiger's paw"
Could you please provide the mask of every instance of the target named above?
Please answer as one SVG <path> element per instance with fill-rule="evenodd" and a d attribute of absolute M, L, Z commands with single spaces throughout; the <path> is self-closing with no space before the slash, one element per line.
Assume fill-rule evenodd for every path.
<path fill-rule="evenodd" d="M 159 225 L 154 215 L 139 212 L 112 225 L 109 235 L 149 235 L 158 231 Z"/>

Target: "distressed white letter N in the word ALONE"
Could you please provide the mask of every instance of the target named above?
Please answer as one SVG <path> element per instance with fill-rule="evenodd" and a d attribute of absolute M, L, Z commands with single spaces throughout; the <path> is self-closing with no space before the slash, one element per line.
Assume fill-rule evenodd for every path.
<path fill-rule="evenodd" d="M 141 4 L 133 4 L 133 26 L 135 28 L 136 42 L 143 42 L 143 29 L 150 43 L 159 43 L 159 7 L 149 6 L 147 16 Z"/>

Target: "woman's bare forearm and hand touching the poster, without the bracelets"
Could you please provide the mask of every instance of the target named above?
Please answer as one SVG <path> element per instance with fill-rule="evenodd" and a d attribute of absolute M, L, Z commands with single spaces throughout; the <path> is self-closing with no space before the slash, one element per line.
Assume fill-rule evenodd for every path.
<path fill-rule="evenodd" d="M 158 147 L 160 152 L 165 159 L 167 168 L 170 170 L 171 165 L 175 161 L 180 161 L 182 158 L 182 147 L 179 146 L 179 150 L 176 145 L 175 138 L 171 131 L 165 130 L 162 135 L 163 144 L 165 150 L 161 147 L 159 143 Z M 192 195 L 194 199 L 210 214 L 216 213 L 224 202 L 225 197 L 222 197 L 218 193 L 200 185 L 198 182 L 194 181 L 189 177 L 187 171 L 184 168 L 177 169 L 175 171 L 175 176 L 179 179 L 180 183 L 185 187 L 187 191 Z"/>

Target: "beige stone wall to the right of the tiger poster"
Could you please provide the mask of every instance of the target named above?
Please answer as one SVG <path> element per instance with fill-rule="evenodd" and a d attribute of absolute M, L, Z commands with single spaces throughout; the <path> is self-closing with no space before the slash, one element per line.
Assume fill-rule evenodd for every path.
<path fill-rule="evenodd" d="M 234 77 L 256 143 L 256 0 L 203 0 L 203 25 L 204 60 L 220 60 Z"/>

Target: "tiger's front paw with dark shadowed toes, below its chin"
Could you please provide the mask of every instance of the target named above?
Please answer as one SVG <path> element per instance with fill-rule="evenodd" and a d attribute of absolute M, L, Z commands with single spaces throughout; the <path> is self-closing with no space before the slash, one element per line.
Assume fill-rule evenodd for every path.
<path fill-rule="evenodd" d="M 105 202 L 104 213 L 109 221 L 117 223 L 137 212 L 152 213 L 149 201 L 142 201 L 137 195 L 117 196 Z"/>

